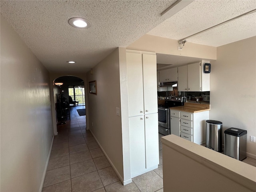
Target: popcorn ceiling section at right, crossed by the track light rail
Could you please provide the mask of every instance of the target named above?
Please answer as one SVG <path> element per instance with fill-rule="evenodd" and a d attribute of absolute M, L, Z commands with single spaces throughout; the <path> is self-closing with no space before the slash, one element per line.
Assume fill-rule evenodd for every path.
<path fill-rule="evenodd" d="M 180 40 L 256 9 L 256 0 L 195 0 L 148 34 Z M 221 46 L 256 35 L 256 13 L 188 38 L 188 42 Z"/>

